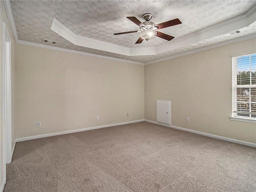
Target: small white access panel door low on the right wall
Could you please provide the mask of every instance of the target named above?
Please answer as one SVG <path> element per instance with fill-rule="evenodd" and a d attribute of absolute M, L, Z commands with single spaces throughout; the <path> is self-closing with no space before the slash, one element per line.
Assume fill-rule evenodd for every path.
<path fill-rule="evenodd" d="M 156 101 L 156 122 L 171 125 L 170 101 Z"/>

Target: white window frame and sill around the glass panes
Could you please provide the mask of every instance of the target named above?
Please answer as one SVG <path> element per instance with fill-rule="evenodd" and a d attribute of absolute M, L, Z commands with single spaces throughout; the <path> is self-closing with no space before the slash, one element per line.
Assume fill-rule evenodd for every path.
<path fill-rule="evenodd" d="M 256 54 L 256 51 L 250 51 L 250 52 L 246 52 L 246 53 L 239 53 L 236 55 L 231 55 L 232 57 L 232 116 L 230 117 L 230 120 L 234 120 L 234 121 L 243 121 L 243 122 L 249 122 L 249 123 L 256 123 L 256 118 L 254 117 L 243 117 L 243 116 L 238 116 L 237 114 L 237 88 L 256 88 L 256 84 L 255 85 L 237 85 L 237 74 L 234 73 L 234 71 L 237 71 L 237 65 L 236 65 L 236 59 L 238 57 L 244 57 L 244 56 L 248 56 L 248 55 L 254 55 Z"/>

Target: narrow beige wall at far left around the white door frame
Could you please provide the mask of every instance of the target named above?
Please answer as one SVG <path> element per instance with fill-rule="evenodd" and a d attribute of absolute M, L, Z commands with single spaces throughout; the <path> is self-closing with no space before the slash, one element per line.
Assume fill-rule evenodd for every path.
<path fill-rule="evenodd" d="M 12 34 L 12 30 L 10 27 L 10 23 L 6 14 L 6 10 L 4 7 L 4 2 L 0 1 L 0 188 L 2 187 L 4 181 L 4 124 L 3 124 L 3 66 L 4 66 L 4 22 L 6 23 L 6 27 L 8 33 L 11 38 L 11 76 L 12 76 L 12 148 L 14 147 L 15 142 L 15 40 Z M 0 189 L 1 190 L 1 189 Z"/>

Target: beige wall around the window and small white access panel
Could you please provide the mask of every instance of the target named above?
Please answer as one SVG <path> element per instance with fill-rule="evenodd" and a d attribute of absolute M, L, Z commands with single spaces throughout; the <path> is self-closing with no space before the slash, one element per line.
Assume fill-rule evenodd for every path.
<path fill-rule="evenodd" d="M 172 125 L 256 143 L 256 124 L 231 121 L 232 59 L 256 50 L 250 39 L 145 66 L 145 119 L 156 121 L 156 100 L 170 100 Z M 186 122 L 186 117 L 190 122 Z"/>

